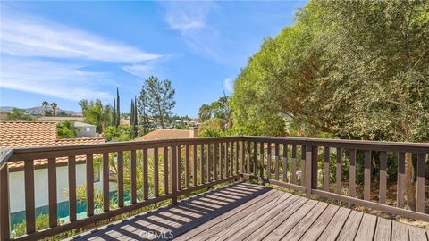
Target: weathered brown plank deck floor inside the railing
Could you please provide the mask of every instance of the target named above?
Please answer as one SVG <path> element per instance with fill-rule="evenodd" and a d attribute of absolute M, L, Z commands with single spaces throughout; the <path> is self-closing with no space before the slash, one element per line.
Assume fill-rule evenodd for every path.
<path fill-rule="evenodd" d="M 75 240 L 428 240 L 429 231 L 238 182 Z"/>

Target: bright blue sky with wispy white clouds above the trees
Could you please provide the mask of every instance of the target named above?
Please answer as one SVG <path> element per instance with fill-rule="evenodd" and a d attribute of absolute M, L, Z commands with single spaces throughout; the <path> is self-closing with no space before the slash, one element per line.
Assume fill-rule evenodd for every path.
<path fill-rule="evenodd" d="M 233 81 L 265 37 L 275 37 L 306 1 L 1 2 L 0 105 L 82 98 L 122 112 L 150 75 L 170 79 L 179 115 L 231 95 Z"/>

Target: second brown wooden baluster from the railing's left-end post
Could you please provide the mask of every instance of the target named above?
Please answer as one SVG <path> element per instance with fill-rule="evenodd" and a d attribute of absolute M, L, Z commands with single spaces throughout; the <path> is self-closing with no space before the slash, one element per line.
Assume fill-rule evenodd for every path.
<path fill-rule="evenodd" d="M 58 225 L 56 198 L 56 158 L 47 159 L 47 186 L 49 189 L 49 227 Z"/>

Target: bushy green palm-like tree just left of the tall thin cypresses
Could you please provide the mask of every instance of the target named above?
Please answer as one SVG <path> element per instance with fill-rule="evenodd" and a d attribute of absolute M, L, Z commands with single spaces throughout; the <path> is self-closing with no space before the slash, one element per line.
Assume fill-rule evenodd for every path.
<path fill-rule="evenodd" d="M 113 119 L 113 108 L 109 104 L 103 105 L 101 100 L 88 101 L 83 99 L 79 102 L 85 122 L 97 126 L 97 133 L 103 133 L 111 125 Z"/>

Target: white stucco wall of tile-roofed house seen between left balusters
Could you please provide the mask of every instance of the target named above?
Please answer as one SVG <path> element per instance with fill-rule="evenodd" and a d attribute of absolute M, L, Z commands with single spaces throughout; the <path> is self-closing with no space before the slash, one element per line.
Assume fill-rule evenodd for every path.
<path fill-rule="evenodd" d="M 67 201 L 63 193 L 68 190 L 68 168 L 56 168 L 56 195 L 58 203 Z M 85 185 L 87 179 L 85 164 L 76 165 L 76 186 Z M 34 170 L 34 186 L 35 186 L 35 204 L 36 207 L 45 206 L 48 204 L 48 186 L 47 186 L 47 169 Z M 10 187 L 10 206 L 11 212 L 20 212 L 25 210 L 25 187 L 24 187 L 24 172 L 16 171 L 9 173 Z M 103 175 L 100 167 L 100 181 L 94 183 L 94 188 L 103 191 Z M 114 183 L 110 183 L 110 191 L 117 190 Z"/>

